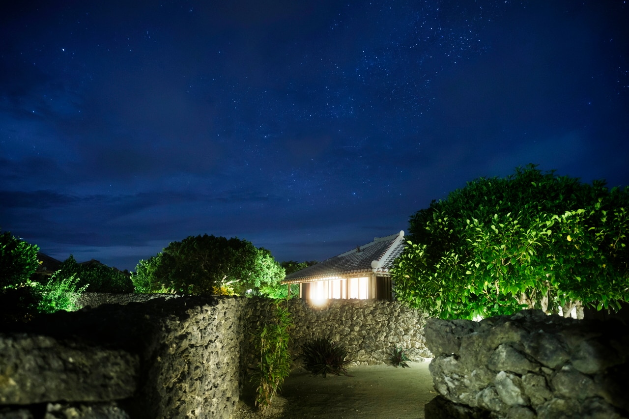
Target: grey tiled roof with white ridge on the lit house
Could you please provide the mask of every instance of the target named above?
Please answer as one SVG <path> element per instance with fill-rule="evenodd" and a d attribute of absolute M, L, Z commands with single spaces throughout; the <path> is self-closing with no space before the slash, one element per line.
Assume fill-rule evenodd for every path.
<path fill-rule="evenodd" d="M 403 230 L 387 237 L 376 237 L 373 242 L 306 267 L 301 271 L 293 272 L 284 278 L 282 284 L 359 277 L 360 274 L 371 273 L 377 273 L 379 276 L 390 276 L 389 269 L 393 261 L 406 247 L 403 238 Z"/>

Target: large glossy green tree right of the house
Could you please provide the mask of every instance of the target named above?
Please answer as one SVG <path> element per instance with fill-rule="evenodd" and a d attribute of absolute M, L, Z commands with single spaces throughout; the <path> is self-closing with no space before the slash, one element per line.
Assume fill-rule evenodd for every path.
<path fill-rule="evenodd" d="M 629 189 L 542 172 L 479 178 L 411 217 L 398 299 L 442 318 L 618 308 L 629 300 Z"/>

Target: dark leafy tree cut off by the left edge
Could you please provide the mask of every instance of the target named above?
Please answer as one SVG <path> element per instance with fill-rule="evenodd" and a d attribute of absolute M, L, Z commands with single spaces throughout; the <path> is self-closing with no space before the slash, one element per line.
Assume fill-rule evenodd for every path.
<path fill-rule="evenodd" d="M 11 235 L 0 234 L 0 290 L 25 284 L 36 271 L 39 247 Z"/>

